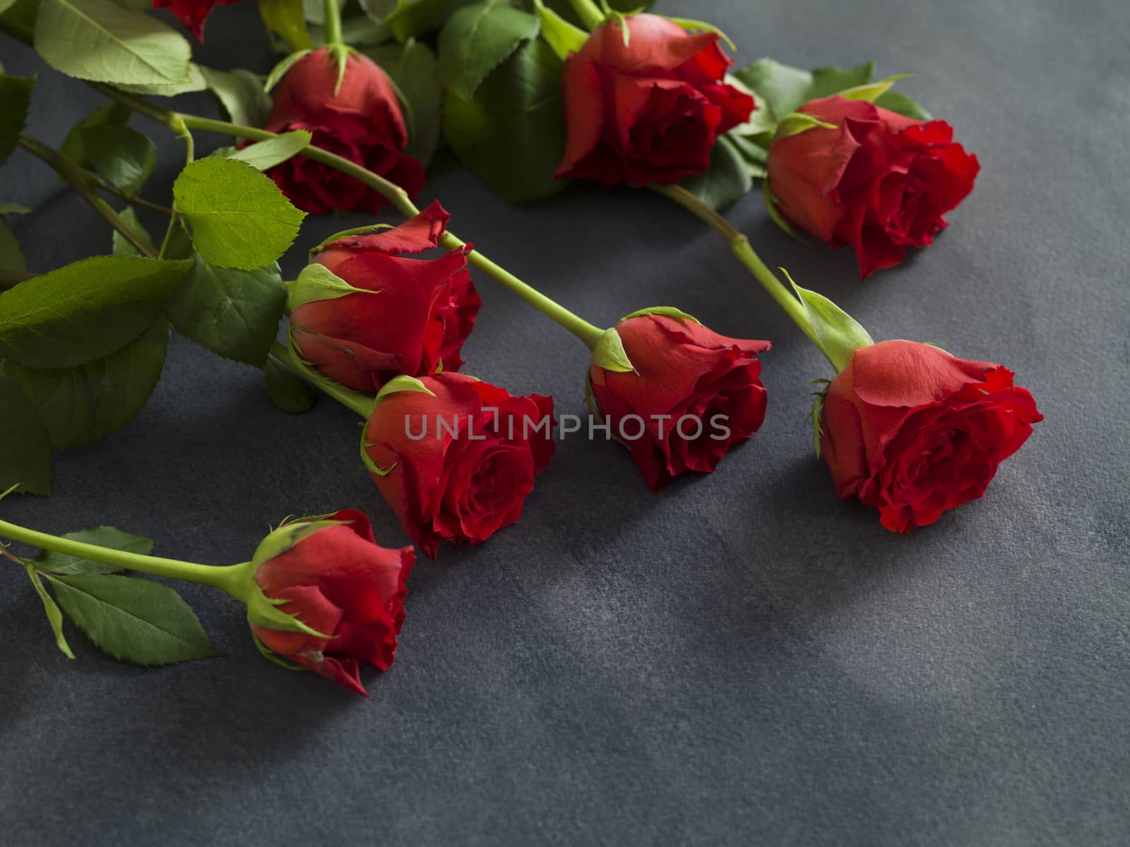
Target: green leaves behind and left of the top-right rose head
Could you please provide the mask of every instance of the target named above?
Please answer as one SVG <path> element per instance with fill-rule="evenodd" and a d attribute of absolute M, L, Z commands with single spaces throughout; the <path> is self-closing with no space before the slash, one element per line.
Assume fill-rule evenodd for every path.
<path fill-rule="evenodd" d="M 757 108 L 747 123 L 721 136 L 711 151 L 711 165 L 702 174 L 688 177 L 683 185 L 715 209 L 723 209 L 765 177 L 770 145 L 779 132 L 802 131 L 816 125 L 798 122 L 796 111 L 805 103 L 852 90 L 860 99 L 872 101 L 892 112 L 927 120 L 929 114 L 918 103 L 890 89 L 890 80 L 872 82 L 875 62 L 854 68 L 803 70 L 773 59 L 758 59 L 727 78 L 730 85 L 750 94 Z M 771 206 L 772 211 L 772 206 Z"/>

